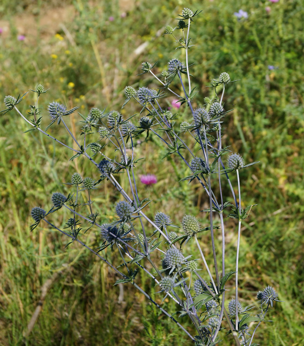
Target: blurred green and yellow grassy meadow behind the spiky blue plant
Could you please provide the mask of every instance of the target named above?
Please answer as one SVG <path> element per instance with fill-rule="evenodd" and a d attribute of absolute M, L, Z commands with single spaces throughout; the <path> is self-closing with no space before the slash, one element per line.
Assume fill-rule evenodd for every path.
<path fill-rule="evenodd" d="M 275 303 L 268 315 L 273 322 L 260 326 L 255 342 L 304 345 L 303 1 L 2 0 L 0 108 L 5 108 L 5 95 L 17 97 L 42 83 L 49 89 L 39 100 L 43 128 L 48 124 L 47 104 L 53 100 L 68 108 L 78 106 L 84 115 L 91 107 L 120 110 L 126 85 L 158 86 L 150 75 L 138 76 L 142 61 L 158 61 L 155 73 L 160 73 L 171 58 L 184 59 L 172 38 L 161 35 L 167 24 L 175 26 L 174 18 L 184 7 L 203 10 L 190 34 L 195 44 L 189 52 L 190 63 L 195 62 L 190 73 L 199 91 L 195 102 L 202 104 L 205 96 L 212 96 L 207 85 L 221 72 L 239 80 L 224 95 L 225 109 L 233 111 L 224 119 L 223 142 L 247 163 L 260 161 L 240 173 L 243 205 L 257 204 L 242 228 L 240 300 L 257 304 L 256 292 L 274 286 L 284 302 Z M 236 19 L 233 13 L 239 9 L 248 12 L 248 19 Z M 177 82 L 173 87 L 182 93 Z M 29 93 L 20 109 L 26 114 L 34 102 L 34 93 Z M 139 111 L 129 102 L 123 114 Z M 184 120 L 190 115 L 182 106 L 177 123 Z M 78 134 L 77 113 L 68 123 Z M 68 240 L 44 223 L 30 232 L 33 207 L 46 209 L 53 192 L 71 192 L 63 183 L 70 182 L 72 173 L 97 180 L 98 172 L 82 158 L 69 162 L 71 153 L 39 133 L 23 134 L 28 127 L 15 111 L 1 116 L 0 124 L 0 345 L 190 345 L 182 331 L 132 286 L 113 286 L 116 275 L 79 244 L 64 249 Z M 73 145 L 61 126 L 49 131 Z M 161 160 L 166 150 L 153 135 L 140 140 L 136 155 L 145 160 L 135 174 L 158 178 L 152 187 L 139 185 L 140 196 L 153 200 L 148 216 L 163 211 L 179 224 L 184 213 L 193 213 L 207 224 L 208 216 L 199 212 L 206 208 L 206 195 L 194 182 L 178 182 L 189 175 L 178 157 Z M 231 179 L 235 186 L 232 174 Z M 127 185 L 124 179 L 120 183 Z M 224 191 L 230 198 L 225 185 Z M 82 197 L 86 201 L 85 192 Z M 119 198 L 106 181 L 93 191 L 100 222 L 115 217 L 113 203 Z M 68 218 L 60 210 L 53 221 L 62 226 Z M 237 231 L 232 219 L 225 223 L 229 271 L 234 268 Z M 220 246 L 220 233 L 215 238 Z M 98 230 L 91 229 L 81 240 L 97 247 Z M 200 242 L 211 263 L 208 235 Z M 198 258 L 194 246 L 187 246 Z M 117 254 L 108 249 L 105 256 L 115 260 Z M 158 290 L 144 275 L 137 281 L 152 296 Z M 233 280 L 226 288 L 227 298 L 232 297 Z M 29 332 L 27 325 L 46 289 Z M 161 302 L 162 297 L 155 299 Z M 175 311 L 171 302 L 164 306 Z M 181 320 L 192 330 L 187 318 Z M 232 338 L 226 337 L 222 345 L 233 345 Z"/>

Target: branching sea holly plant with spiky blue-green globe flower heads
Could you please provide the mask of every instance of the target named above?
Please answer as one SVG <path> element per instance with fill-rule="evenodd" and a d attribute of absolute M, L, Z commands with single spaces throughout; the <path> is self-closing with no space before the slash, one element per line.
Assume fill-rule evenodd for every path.
<path fill-rule="evenodd" d="M 269 306 L 273 306 L 274 301 L 278 301 L 278 295 L 274 288 L 267 286 L 257 294 L 259 301 L 259 312 L 253 315 L 249 310 L 252 307 L 243 307 L 239 301 L 238 294 L 238 271 L 239 271 L 239 249 L 241 237 L 241 222 L 248 217 L 252 205 L 241 206 L 241 189 L 239 171 L 253 165 L 255 162 L 245 164 L 244 159 L 238 153 L 230 153 L 229 148 L 222 145 L 223 118 L 229 111 L 224 109 L 223 96 L 225 88 L 229 87 L 231 81 L 229 74 L 222 72 L 218 79 L 211 81 L 210 88 L 214 91 L 213 98 L 205 98 L 204 104 L 193 107 L 193 99 L 196 94 L 195 88 L 191 89 L 191 75 L 189 73 L 188 51 L 191 47 L 189 30 L 191 23 L 199 14 L 189 8 L 185 8 L 176 27 L 167 26 L 166 34 L 171 35 L 177 44 L 177 48 L 185 50 L 186 60 L 182 62 L 173 58 L 168 62 L 167 70 L 157 76 L 153 72 L 153 67 L 149 62 L 142 63 L 142 71 L 150 73 L 160 84 L 158 90 L 147 87 L 138 89 L 133 86 L 126 86 L 125 95 L 127 102 L 135 101 L 139 104 L 140 116 L 136 114 L 127 119 L 117 110 L 106 112 L 98 108 L 92 108 L 87 116 L 79 113 L 82 121 L 80 129 L 80 139 L 76 138 L 64 118 L 76 110 L 67 108 L 58 102 L 51 102 L 47 108 L 50 124 L 45 130 L 41 129 L 41 114 L 38 108 L 38 100 L 44 94 L 43 85 L 39 84 L 33 92 L 37 93 L 37 101 L 30 107 L 30 112 L 24 116 L 17 105 L 23 100 L 11 95 L 6 96 L 4 103 L 6 109 L 3 113 L 15 109 L 19 115 L 29 124 L 28 131 L 40 131 L 42 134 L 52 138 L 56 142 L 74 152 L 70 160 L 83 155 L 91 161 L 95 169 L 98 170 L 100 179 L 94 181 L 91 177 L 83 178 L 78 172 L 71 175 L 71 182 L 74 192 L 68 196 L 60 192 L 53 193 L 52 208 L 48 211 L 40 207 L 34 207 L 31 215 L 34 219 L 32 229 L 37 227 L 44 220 L 49 226 L 60 231 L 70 238 L 70 243 L 78 242 L 85 246 L 92 253 L 96 254 L 102 261 L 107 263 L 121 279 L 119 283 L 130 283 L 142 294 L 145 295 L 156 307 L 165 315 L 170 317 L 188 336 L 195 345 L 215 345 L 220 341 L 218 333 L 227 329 L 228 334 L 232 334 L 236 345 L 254 345 L 252 343 L 254 334 L 261 321 L 265 321 L 265 316 Z M 177 35 L 181 33 L 181 35 Z M 187 84 L 183 81 L 182 75 L 186 76 Z M 180 96 L 175 92 L 171 83 L 178 79 L 184 95 Z M 186 84 L 186 85 L 185 85 Z M 187 90 L 186 90 L 187 89 Z M 221 94 L 219 95 L 219 90 Z M 189 113 L 190 120 L 182 121 L 177 126 L 178 114 L 173 114 L 162 102 L 166 93 L 172 93 L 178 98 L 180 104 L 184 104 Z M 137 119 L 137 120 L 134 120 Z M 60 142 L 55 137 L 47 133 L 48 128 L 55 124 L 62 124 L 72 137 L 77 149 Z M 203 227 L 198 218 L 194 215 L 184 215 L 180 226 L 173 225 L 171 217 L 159 211 L 155 214 L 154 220 L 146 215 L 146 208 L 150 202 L 147 196 L 140 199 L 137 192 L 137 182 L 135 165 L 142 158 L 136 158 L 134 154 L 134 138 L 145 135 L 146 138 L 153 133 L 168 148 L 165 155 L 178 155 L 181 161 L 189 168 L 191 174 L 184 177 L 182 181 L 198 181 L 205 190 L 209 199 L 209 208 L 203 210 L 209 213 L 209 225 Z M 187 143 L 186 133 L 189 133 L 192 143 Z M 95 141 L 92 141 L 92 137 Z M 110 147 L 113 152 L 112 157 L 104 154 L 103 149 Z M 192 149 L 191 149 L 192 148 Z M 229 154 L 226 160 L 222 157 Z M 188 155 L 191 159 L 187 160 Z M 97 158 L 96 158 L 97 157 Z M 224 163 L 225 162 L 225 163 Z M 128 194 L 119 183 L 119 175 L 125 174 L 129 183 L 131 194 Z M 237 193 L 229 179 L 229 174 L 236 174 L 238 186 Z M 221 189 L 222 179 L 229 183 L 233 204 L 226 201 Z M 113 222 L 101 224 L 98 222 L 99 214 L 95 212 L 93 201 L 90 198 L 90 191 L 98 189 L 102 181 L 110 181 L 119 191 L 122 200 L 118 201 L 114 208 L 117 219 Z M 219 195 L 214 192 L 214 185 L 219 188 Z M 87 203 L 80 203 L 79 191 L 87 190 Z M 88 206 L 89 215 L 83 215 L 81 208 Z M 71 213 L 71 217 L 66 222 L 66 230 L 56 227 L 50 216 L 60 208 L 66 208 Z M 225 225 L 224 213 L 229 210 L 227 217 L 234 218 L 238 224 L 238 242 L 236 249 L 235 271 L 226 273 L 225 271 Z M 214 225 L 214 214 L 220 218 L 220 225 Z M 80 222 L 82 219 L 83 223 Z M 87 225 L 87 226 L 85 226 Z M 153 232 L 149 233 L 147 225 L 153 227 Z M 99 229 L 100 246 L 92 249 L 81 241 L 81 234 L 89 228 Z M 175 232 L 172 228 L 179 228 L 180 232 Z M 214 229 L 222 231 L 222 268 L 219 270 L 218 253 L 215 248 Z M 204 232 L 210 232 L 213 268 L 206 262 L 204 253 L 199 244 L 199 237 Z M 201 259 L 192 258 L 188 253 L 187 243 L 194 242 L 198 247 Z M 110 247 L 112 251 L 119 254 L 119 263 L 110 263 L 103 251 Z M 152 253 L 162 255 L 162 259 L 156 262 Z M 200 274 L 204 272 L 204 277 Z M 168 313 L 161 304 L 158 304 L 136 280 L 138 272 L 144 271 L 159 286 L 158 293 L 172 299 L 177 306 L 176 315 L 188 316 L 192 321 L 196 334 L 191 335 L 182 324 L 172 314 Z M 213 272 L 213 273 L 212 273 Z M 187 274 L 185 274 L 187 273 Z M 225 284 L 232 279 L 235 274 L 235 298 L 231 299 L 225 307 Z M 207 279 L 206 279 L 207 277 Z M 189 279 L 189 280 L 188 280 Z M 258 322 L 253 331 L 249 330 L 250 322 Z"/>

